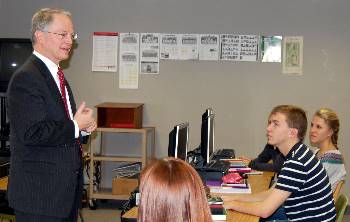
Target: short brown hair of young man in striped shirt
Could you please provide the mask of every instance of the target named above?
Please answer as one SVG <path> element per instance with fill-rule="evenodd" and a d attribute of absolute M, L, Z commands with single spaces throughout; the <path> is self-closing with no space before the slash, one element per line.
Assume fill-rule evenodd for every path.
<path fill-rule="evenodd" d="M 270 116 L 276 113 L 282 113 L 286 116 L 288 127 L 298 130 L 298 138 L 303 141 L 307 130 L 306 112 L 293 105 L 279 105 L 272 109 Z"/>

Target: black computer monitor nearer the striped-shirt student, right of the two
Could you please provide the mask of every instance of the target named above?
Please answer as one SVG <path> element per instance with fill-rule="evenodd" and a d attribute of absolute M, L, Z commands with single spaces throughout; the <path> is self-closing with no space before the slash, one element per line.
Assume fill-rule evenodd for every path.
<path fill-rule="evenodd" d="M 214 152 L 214 114 L 210 114 L 207 118 L 203 118 L 201 126 L 201 156 L 203 165 L 210 162 L 210 157 Z"/>

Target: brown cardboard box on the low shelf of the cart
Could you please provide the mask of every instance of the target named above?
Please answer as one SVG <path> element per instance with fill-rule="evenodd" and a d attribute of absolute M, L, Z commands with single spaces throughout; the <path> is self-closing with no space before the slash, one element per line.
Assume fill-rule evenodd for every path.
<path fill-rule="evenodd" d="M 130 193 L 134 191 L 138 185 L 138 179 L 114 177 L 112 181 L 112 194 L 130 195 Z"/>

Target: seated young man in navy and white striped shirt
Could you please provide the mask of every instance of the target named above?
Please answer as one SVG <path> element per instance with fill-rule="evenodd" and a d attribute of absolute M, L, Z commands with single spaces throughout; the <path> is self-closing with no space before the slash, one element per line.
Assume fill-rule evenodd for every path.
<path fill-rule="evenodd" d="M 272 109 L 267 126 L 268 143 L 286 157 L 275 187 L 236 197 L 223 197 L 225 207 L 267 218 L 284 205 L 289 221 L 335 221 L 332 189 L 325 169 L 302 143 L 306 113 L 299 107 Z"/>

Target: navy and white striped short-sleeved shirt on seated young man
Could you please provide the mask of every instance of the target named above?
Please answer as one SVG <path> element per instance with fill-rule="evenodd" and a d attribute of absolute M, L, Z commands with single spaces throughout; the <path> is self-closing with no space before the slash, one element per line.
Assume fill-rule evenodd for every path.
<path fill-rule="evenodd" d="M 291 192 L 284 203 L 290 221 L 335 221 L 326 170 L 306 145 L 297 143 L 287 154 L 275 188 Z"/>

